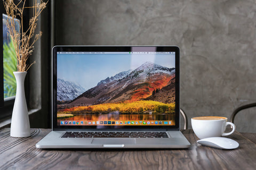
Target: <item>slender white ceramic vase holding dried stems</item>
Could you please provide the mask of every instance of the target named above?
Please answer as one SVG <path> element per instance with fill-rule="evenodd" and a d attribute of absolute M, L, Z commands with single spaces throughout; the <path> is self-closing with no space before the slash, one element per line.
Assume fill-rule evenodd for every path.
<path fill-rule="evenodd" d="M 11 137 L 30 137 L 30 124 L 24 89 L 27 72 L 13 72 L 13 74 L 16 79 L 17 90 L 12 111 Z"/>

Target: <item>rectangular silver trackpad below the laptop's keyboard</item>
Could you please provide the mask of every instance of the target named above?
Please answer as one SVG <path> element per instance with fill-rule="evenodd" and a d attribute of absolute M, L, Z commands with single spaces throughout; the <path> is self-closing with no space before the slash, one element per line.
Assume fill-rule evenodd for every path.
<path fill-rule="evenodd" d="M 92 144 L 94 145 L 134 145 L 135 139 L 93 139 Z"/>

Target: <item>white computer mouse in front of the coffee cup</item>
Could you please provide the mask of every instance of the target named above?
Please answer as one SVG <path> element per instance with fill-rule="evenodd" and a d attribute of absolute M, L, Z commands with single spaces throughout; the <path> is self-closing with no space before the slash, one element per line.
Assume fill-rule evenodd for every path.
<path fill-rule="evenodd" d="M 239 147 L 239 143 L 233 139 L 223 138 L 223 137 L 212 137 L 198 140 L 197 143 L 200 143 L 204 146 L 209 146 L 219 149 L 235 149 Z"/>

